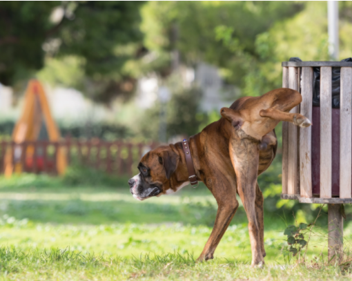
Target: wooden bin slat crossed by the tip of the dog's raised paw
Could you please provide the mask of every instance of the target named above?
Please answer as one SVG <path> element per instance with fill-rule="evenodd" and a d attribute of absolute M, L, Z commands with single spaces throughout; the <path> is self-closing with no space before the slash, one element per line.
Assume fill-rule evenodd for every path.
<path fill-rule="evenodd" d="M 302 68 L 302 103 L 300 113 L 312 119 L 313 106 L 313 68 Z M 312 197 L 311 166 L 312 128 L 300 128 L 300 194 L 301 197 Z"/>

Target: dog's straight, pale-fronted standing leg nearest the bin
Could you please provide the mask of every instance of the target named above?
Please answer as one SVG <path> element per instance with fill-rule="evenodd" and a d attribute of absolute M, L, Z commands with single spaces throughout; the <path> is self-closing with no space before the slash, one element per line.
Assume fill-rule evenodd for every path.
<path fill-rule="evenodd" d="M 259 149 L 253 139 L 232 139 L 230 155 L 237 177 L 237 191 L 248 218 L 248 232 L 251 240 L 252 267 L 263 264 L 264 227 L 262 225 L 262 202 L 257 193 L 257 171 Z M 256 198 L 258 195 L 258 198 Z"/>

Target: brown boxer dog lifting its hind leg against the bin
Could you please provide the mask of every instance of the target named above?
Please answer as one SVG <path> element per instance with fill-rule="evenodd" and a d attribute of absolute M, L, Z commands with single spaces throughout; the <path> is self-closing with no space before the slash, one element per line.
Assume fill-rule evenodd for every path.
<path fill-rule="evenodd" d="M 301 127 L 311 125 L 303 115 L 289 113 L 301 101 L 300 93 L 289 88 L 271 90 L 261 97 L 242 97 L 230 108 L 220 110 L 219 121 L 190 137 L 188 145 L 197 180 L 204 182 L 218 205 L 213 231 L 198 260 L 213 258 L 239 206 L 238 193 L 248 217 L 251 264 L 264 264 L 264 198 L 257 176 L 273 162 L 277 149 L 274 128 L 280 121 Z M 189 184 L 182 142 L 149 151 L 138 169 L 140 173 L 128 181 L 137 200 L 175 193 Z"/>

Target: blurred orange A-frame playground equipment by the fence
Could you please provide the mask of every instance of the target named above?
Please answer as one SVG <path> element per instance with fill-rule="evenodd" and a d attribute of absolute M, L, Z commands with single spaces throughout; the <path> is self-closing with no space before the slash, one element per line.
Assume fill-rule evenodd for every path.
<path fill-rule="evenodd" d="M 7 177 L 10 177 L 13 171 L 21 173 L 24 170 L 23 166 L 29 168 L 35 166 L 37 171 L 41 171 L 43 165 L 51 165 L 55 166 L 59 175 L 65 172 L 66 153 L 64 148 L 59 146 L 56 149 L 56 163 L 44 163 L 43 158 L 46 155 L 43 153 L 46 153 L 46 149 L 39 151 L 34 144 L 39 138 L 42 126 L 45 126 L 50 142 L 59 141 L 60 132 L 52 119 L 43 87 L 39 81 L 30 80 L 24 99 L 23 113 L 12 132 L 13 144 L 6 150 L 4 158 L 4 170 Z"/>

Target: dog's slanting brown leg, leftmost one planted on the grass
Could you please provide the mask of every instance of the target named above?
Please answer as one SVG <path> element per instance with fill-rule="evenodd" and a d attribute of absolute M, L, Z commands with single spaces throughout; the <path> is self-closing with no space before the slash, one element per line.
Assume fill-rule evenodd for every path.
<path fill-rule="evenodd" d="M 204 249 L 197 260 L 204 261 L 214 258 L 214 252 L 219 244 L 222 236 L 224 235 L 228 224 L 230 224 L 233 215 L 235 215 L 238 208 L 238 201 L 236 198 L 236 182 L 235 177 L 233 180 L 228 180 L 222 171 L 215 171 L 216 177 L 212 177 L 213 186 L 216 188 L 210 188 L 216 201 L 217 201 L 217 214 L 213 231 L 211 236 L 206 242 Z"/>

